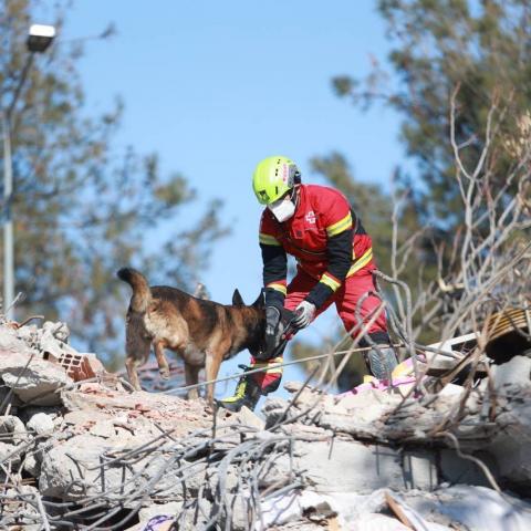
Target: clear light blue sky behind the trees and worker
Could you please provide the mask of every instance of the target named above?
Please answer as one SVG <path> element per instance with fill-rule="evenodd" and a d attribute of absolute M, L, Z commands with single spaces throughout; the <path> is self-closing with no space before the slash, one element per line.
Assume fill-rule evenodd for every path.
<path fill-rule="evenodd" d="M 227 2 L 91 0 L 75 2 L 63 39 L 93 35 L 115 22 L 110 41 L 87 41 L 80 63 L 87 111 L 125 102 L 115 149 L 132 144 L 157 152 L 165 171 L 177 170 L 200 201 L 225 201 L 232 235 L 216 244 L 201 273 L 212 299 L 229 303 L 238 287 L 256 299 L 261 285 L 260 206 L 251 190 L 254 165 L 282 154 L 304 181 L 319 181 L 309 159 L 340 150 L 358 179 L 388 186 L 403 150 L 389 110 L 364 114 L 337 98 L 331 77 L 363 76 L 388 44 L 372 0 Z M 45 21 L 44 21 L 45 22 Z M 186 228 L 194 218 L 179 217 Z M 368 228 L 369 230 L 369 228 Z M 154 251 L 155 252 L 155 251 Z M 164 279 L 154 279 L 164 281 Z M 333 310 L 304 331 L 326 333 Z M 243 363 L 242 354 L 235 363 Z M 226 364 L 221 373 L 235 372 Z M 300 377 L 290 369 L 289 377 Z"/>

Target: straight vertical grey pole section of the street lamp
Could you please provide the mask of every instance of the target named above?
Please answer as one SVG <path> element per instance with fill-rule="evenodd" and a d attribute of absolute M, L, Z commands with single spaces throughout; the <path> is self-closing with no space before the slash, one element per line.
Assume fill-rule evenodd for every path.
<path fill-rule="evenodd" d="M 11 308 L 14 299 L 13 219 L 13 168 L 11 160 L 11 127 L 9 117 L 2 113 L 3 133 L 3 304 L 2 310 L 9 320 L 13 319 Z"/>

